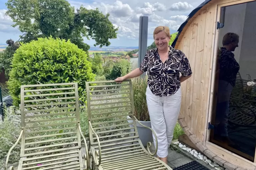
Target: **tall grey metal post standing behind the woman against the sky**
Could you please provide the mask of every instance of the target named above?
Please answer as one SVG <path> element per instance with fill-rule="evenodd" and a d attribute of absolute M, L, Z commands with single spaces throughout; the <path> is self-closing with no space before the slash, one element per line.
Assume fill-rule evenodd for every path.
<path fill-rule="evenodd" d="M 148 24 L 149 17 L 141 16 L 139 17 L 139 58 L 138 58 L 138 67 L 140 66 L 144 56 L 147 52 L 148 45 Z M 146 73 L 141 75 L 142 77 L 146 76 Z"/>

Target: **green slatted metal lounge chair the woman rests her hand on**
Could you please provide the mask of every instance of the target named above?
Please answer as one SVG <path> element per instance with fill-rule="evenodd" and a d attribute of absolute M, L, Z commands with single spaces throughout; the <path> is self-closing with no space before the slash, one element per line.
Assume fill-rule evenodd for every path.
<path fill-rule="evenodd" d="M 154 157 L 157 142 L 151 153 L 139 139 L 131 80 L 86 82 L 86 90 L 91 169 L 171 170 Z"/>

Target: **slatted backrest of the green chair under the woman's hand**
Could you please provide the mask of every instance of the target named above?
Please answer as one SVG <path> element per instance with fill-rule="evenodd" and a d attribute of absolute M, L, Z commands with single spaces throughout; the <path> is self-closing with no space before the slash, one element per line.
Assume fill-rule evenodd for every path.
<path fill-rule="evenodd" d="M 88 120 L 101 144 L 138 142 L 131 80 L 86 82 L 86 91 Z M 96 145 L 90 126 L 89 135 L 90 144 Z"/>

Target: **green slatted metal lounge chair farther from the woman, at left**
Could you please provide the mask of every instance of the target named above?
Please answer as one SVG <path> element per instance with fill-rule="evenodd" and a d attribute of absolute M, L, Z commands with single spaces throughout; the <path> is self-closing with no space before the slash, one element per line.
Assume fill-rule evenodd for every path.
<path fill-rule="evenodd" d="M 88 149 L 80 127 L 77 83 L 21 86 L 21 127 L 15 143 L 21 139 L 18 170 L 89 168 Z M 81 137 L 86 146 L 84 157 Z M 6 168 L 14 146 L 8 152 Z"/>

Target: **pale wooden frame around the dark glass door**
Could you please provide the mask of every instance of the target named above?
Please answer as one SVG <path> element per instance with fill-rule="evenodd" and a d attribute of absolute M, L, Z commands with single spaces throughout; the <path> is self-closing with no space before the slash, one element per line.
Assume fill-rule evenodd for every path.
<path fill-rule="evenodd" d="M 221 157 L 223 160 L 233 163 L 234 165 L 243 165 L 245 164 L 245 168 L 250 167 L 251 169 L 256 170 L 256 151 L 255 151 L 255 157 L 254 162 L 251 162 L 233 152 L 230 152 L 222 147 L 219 147 L 218 145 L 211 143 L 209 141 L 210 138 L 210 130 L 208 129 L 208 122 L 211 122 L 211 116 L 212 116 L 212 105 L 214 100 L 214 88 L 215 88 L 215 73 L 216 73 L 216 59 L 217 59 L 217 51 L 218 51 L 218 42 L 219 42 L 219 29 L 217 29 L 217 21 L 220 21 L 220 12 L 221 7 L 229 6 L 229 5 L 236 5 L 236 4 L 242 4 L 246 2 L 252 2 L 256 0 L 216 0 L 216 2 L 212 5 L 215 5 L 215 24 L 214 24 L 214 31 L 213 31 L 213 38 L 212 38 L 212 51 L 211 51 L 211 77 L 209 79 L 209 90 L 208 90 L 208 98 L 207 98 L 207 113 L 206 113 L 206 121 L 205 121 L 205 133 L 204 135 L 204 146 L 206 146 L 208 149 L 210 149 L 212 152 L 214 152 L 216 155 Z M 220 156 L 222 155 L 222 156 Z"/>

